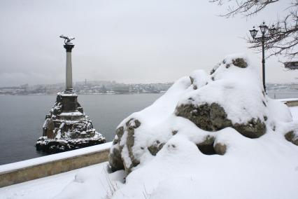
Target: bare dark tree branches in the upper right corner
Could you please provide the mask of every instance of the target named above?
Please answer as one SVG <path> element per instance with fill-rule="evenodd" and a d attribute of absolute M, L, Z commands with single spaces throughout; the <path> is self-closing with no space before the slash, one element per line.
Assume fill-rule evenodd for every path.
<path fill-rule="evenodd" d="M 244 15 L 249 17 L 257 15 L 270 4 L 280 0 L 211 0 L 220 6 L 229 4 L 227 13 L 222 17 L 230 18 L 234 15 Z M 232 5 L 231 5 L 232 4 Z M 269 50 L 269 56 L 285 55 L 290 58 L 298 57 L 298 0 L 292 0 L 290 6 L 285 10 L 288 12 L 285 17 L 277 20 L 274 25 L 278 28 L 276 34 L 268 35 L 265 48 Z M 260 50 L 261 41 L 246 39 L 250 43 L 249 48 Z"/>

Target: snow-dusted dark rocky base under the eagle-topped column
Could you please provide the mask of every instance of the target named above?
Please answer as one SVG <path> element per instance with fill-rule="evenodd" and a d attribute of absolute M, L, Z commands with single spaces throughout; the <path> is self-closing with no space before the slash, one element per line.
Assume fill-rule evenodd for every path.
<path fill-rule="evenodd" d="M 93 128 L 77 98 L 72 91 L 57 93 L 54 107 L 45 116 L 43 136 L 37 140 L 36 150 L 59 153 L 106 142 Z"/>

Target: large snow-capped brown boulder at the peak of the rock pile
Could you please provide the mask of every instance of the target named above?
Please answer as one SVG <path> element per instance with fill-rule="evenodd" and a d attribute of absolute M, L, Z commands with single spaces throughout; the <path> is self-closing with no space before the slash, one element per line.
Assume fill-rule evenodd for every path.
<path fill-rule="evenodd" d="M 264 135 L 267 99 L 257 71 L 248 67 L 246 60 L 226 57 L 212 70 L 208 77 L 211 81 L 197 74 L 190 76 L 195 90 L 180 99 L 176 116 L 189 119 L 203 130 L 232 127 L 246 137 Z"/>

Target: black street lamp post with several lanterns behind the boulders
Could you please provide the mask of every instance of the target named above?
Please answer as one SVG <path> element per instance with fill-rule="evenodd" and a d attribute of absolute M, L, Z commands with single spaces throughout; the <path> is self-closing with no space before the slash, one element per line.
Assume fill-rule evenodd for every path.
<path fill-rule="evenodd" d="M 262 43 L 262 74 L 263 74 L 263 87 L 264 91 L 266 92 L 266 84 L 265 84 L 265 41 L 271 39 L 271 36 L 276 34 L 277 29 L 274 27 L 274 25 L 271 26 L 271 28 L 268 28 L 265 22 L 263 22 L 262 25 L 259 26 L 262 36 L 256 37 L 257 36 L 257 29 L 253 27 L 253 29 L 250 29 L 250 35 L 253 37 L 253 40 L 256 42 L 261 42 Z M 269 33 L 267 33 L 267 30 L 269 30 Z M 267 33 L 267 34 L 266 34 Z"/>

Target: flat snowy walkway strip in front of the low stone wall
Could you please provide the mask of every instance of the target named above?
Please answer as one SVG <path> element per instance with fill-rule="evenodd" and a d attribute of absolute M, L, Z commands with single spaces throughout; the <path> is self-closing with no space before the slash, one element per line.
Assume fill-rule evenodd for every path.
<path fill-rule="evenodd" d="M 107 162 L 100 163 L 78 170 L 56 174 L 50 177 L 35 179 L 12 186 L 6 186 L 0 188 L 0 198 L 57 198 L 56 196 L 69 184 L 73 184 L 73 186 L 80 186 L 80 188 L 74 188 L 73 190 L 71 189 L 71 192 L 78 192 L 76 193 L 78 198 L 92 198 L 92 196 L 97 195 L 99 190 L 99 194 L 104 195 L 108 193 L 108 190 L 110 190 L 110 184 L 112 183 L 111 181 L 117 179 L 118 176 L 120 176 L 118 178 L 121 179 L 123 176 L 123 172 L 115 172 L 114 174 L 108 175 L 106 169 L 107 165 Z M 88 186 L 86 184 L 83 184 L 84 177 L 81 177 L 82 175 L 88 179 L 92 177 L 97 179 L 96 181 L 92 181 L 94 184 L 88 184 L 90 185 L 90 190 L 88 190 Z M 69 194 L 66 191 L 63 194 L 65 197 L 61 195 L 60 198 L 73 198 L 71 196 L 72 194 Z M 67 195 L 69 195 L 69 197 Z"/>

